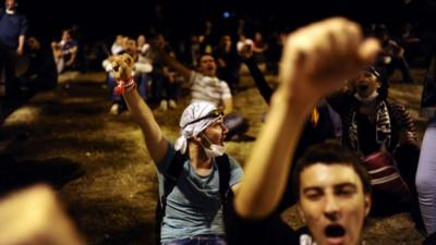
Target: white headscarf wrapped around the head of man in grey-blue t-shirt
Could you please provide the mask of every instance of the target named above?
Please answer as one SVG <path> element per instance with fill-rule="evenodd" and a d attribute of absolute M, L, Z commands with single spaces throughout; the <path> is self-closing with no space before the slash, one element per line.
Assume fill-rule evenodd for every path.
<path fill-rule="evenodd" d="M 197 119 L 206 117 L 217 108 L 210 102 L 193 102 L 184 109 L 180 118 L 179 126 L 181 136 L 175 140 L 174 149 L 184 154 L 187 148 L 187 139 L 202 133 L 206 127 L 216 122 L 218 118 L 205 118 L 195 123 L 191 123 Z"/>

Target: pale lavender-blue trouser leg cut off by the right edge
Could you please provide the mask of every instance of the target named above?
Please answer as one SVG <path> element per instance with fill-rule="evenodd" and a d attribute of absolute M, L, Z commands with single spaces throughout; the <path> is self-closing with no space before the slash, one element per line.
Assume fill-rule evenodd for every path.
<path fill-rule="evenodd" d="M 428 123 L 421 147 L 416 191 L 427 234 L 436 232 L 436 118 Z"/>

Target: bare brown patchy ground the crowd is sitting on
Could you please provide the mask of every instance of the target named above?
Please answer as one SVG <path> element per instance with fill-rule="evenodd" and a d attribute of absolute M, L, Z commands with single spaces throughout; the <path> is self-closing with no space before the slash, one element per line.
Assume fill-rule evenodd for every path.
<path fill-rule="evenodd" d="M 2 131 L 11 142 L 0 159 L 0 192 L 49 182 L 88 244 L 154 244 L 155 166 L 129 113 L 107 114 L 110 102 L 104 81 L 101 73 L 78 76 L 68 89 L 63 83 L 38 94 L 7 119 Z M 186 105 L 183 99 L 177 110 L 156 111 L 171 140 Z M 255 136 L 267 106 L 250 79 L 242 83 L 235 105 L 250 119 L 249 134 Z M 228 151 L 243 164 L 252 145 L 229 143 Z M 299 224 L 294 209 L 284 219 Z M 372 218 L 365 230 L 368 245 L 413 245 L 422 237 L 407 213 Z"/>

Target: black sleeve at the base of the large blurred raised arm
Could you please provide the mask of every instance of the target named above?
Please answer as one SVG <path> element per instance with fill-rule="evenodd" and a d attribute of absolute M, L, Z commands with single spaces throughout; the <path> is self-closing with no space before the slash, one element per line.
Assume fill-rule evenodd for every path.
<path fill-rule="evenodd" d="M 300 244 L 299 234 L 280 219 L 279 213 L 272 213 L 262 220 L 241 218 L 234 210 L 233 197 L 229 197 L 225 221 L 229 245 Z"/>

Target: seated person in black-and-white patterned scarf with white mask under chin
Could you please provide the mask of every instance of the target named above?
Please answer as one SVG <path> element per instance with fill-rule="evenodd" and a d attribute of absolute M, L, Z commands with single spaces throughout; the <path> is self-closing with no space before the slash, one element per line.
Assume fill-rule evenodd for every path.
<path fill-rule="evenodd" d="M 364 69 L 350 81 L 350 94 L 336 106 L 342 119 L 342 143 L 362 157 L 386 149 L 397 161 L 400 175 L 414 197 L 420 155 L 414 123 L 404 106 L 387 101 L 387 88 L 383 87 L 382 81 L 383 77 L 373 66 Z M 378 192 L 374 195 L 374 211 L 377 212 L 393 211 L 395 206 L 399 211 L 411 200 L 402 194 L 389 198 Z"/>

